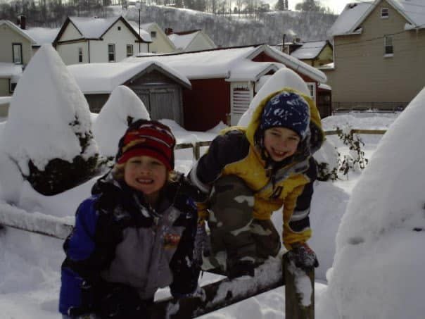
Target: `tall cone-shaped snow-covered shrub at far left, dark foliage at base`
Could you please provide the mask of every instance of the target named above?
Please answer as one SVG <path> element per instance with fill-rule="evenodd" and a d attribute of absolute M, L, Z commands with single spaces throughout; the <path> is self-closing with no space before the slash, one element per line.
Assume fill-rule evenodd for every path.
<path fill-rule="evenodd" d="M 58 194 L 96 174 L 90 129 L 80 88 L 53 47 L 42 46 L 11 99 L 2 135 L 7 156 L 37 192 Z"/>

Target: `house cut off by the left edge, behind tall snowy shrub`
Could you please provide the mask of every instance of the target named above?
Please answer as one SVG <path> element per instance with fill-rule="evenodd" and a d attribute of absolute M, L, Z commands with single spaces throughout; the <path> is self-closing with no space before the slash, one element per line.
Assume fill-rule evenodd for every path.
<path fill-rule="evenodd" d="M 0 20 L 0 96 L 11 96 L 32 57 L 34 39 L 18 25 Z"/>

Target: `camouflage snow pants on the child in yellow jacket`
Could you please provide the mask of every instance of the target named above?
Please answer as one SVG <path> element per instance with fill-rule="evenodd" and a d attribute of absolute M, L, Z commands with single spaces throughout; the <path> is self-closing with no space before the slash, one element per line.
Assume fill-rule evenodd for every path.
<path fill-rule="evenodd" d="M 239 261 L 261 263 L 280 250 L 271 220 L 253 218 L 253 191 L 234 175 L 220 177 L 210 196 L 210 263 L 226 270 Z"/>

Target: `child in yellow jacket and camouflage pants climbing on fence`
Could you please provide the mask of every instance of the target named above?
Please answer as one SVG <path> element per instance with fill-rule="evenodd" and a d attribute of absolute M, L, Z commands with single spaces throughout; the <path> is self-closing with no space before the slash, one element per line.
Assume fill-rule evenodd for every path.
<path fill-rule="evenodd" d="M 301 267 L 317 265 L 305 242 L 317 175 L 312 153 L 323 139 L 312 99 L 286 88 L 260 102 L 248 127 L 231 127 L 213 140 L 189 173 L 210 194 L 198 204 L 211 231 L 210 267 L 229 277 L 253 275 L 257 263 L 277 256 L 280 239 L 270 217 L 282 206 L 288 257 Z"/>

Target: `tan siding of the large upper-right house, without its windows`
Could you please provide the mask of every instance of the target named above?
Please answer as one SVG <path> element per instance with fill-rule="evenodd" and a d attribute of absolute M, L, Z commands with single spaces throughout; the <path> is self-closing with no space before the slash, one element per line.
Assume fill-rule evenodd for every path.
<path fill-rule="evenodd" d="M 381 8 L 389 18 L 381 19 Z M 404 31 L 407 21 L 386 1 L 362 23 L 361 35 L 334 37 L 335 70 L 326 72 L 338 102 L 408 103 L 424 87 L 425 30 Z M 394 35 L 392 57 L 384 35 Z"/>

